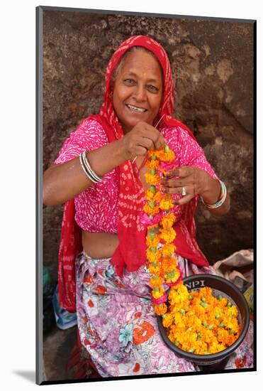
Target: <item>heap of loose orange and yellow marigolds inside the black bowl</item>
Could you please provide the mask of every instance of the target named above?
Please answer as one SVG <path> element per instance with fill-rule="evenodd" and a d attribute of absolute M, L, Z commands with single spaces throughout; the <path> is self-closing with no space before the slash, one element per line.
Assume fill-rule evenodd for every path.
<path fill-rule="evenodd" d="M 167 281 L 165 274 L 164 278 Z M 211 288 L 188 292 L 180 282 L 170 289 L 168 300 L 166 316 L 173 316 L 174 324 L 167 327 L 167 335 L 183 350 L 196 354 L 217 353 L 231 346 L 240 335 L 236 307 L 225 306 L 226 299 L 213 297 Z"/>

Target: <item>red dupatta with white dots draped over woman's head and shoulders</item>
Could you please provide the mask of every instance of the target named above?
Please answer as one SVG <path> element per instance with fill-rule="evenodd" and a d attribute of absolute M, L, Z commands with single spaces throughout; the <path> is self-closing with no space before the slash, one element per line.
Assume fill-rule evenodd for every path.
<path fill-rule="evenodd" d="M 99 122 L 108 136 L 108 142 L 120 139 L 123 136 L 121 124 L 118 122 L 111 100 L 111 77 L 123 54 L 133 46 L 143 46 L 152 51 L 160 61 L 164 75 L 164 95 L 156 122 L 162 121 L 168 126 L 182 127 L 194 137 L 191 131 L 178 119 L 172 118 L 174 107 L 174 85 L 167 53 L 162 46 L 147 36 L 134 36 L 123 42 L 113 54 L 106 69 L 106 85 L 103 105 L 100 113 L 90 118 Z M 125 161 L 116 168 L 119 177 L 118 201 L 118 240 L 119 245 L 112 257 L 112 264 L 116 267 L 118 275 L 122 275 L 124 267 L 134 272 L 146 262 L 145 235 L 146 228 L 140 223 L 144 191 L 131 161 Z M 199 249 L 195 240 L 194 212 L 197 198 L 184 205 L 182 220 L 184 224 L 177 225 L 177 254 L 187 257 L 198 265 L 208 265 L 206 257 Z M 191 238 L 186 242 L 186 234 Z M 69 312 L 76 311 L 76 283 L 74 262 L 77 254 L 82 251 L 81 230 L 74 220 L 74 200 L 65 204 L 60 237 L 60 251 L 58 264 L 58 288 L 60 305 Z"/>

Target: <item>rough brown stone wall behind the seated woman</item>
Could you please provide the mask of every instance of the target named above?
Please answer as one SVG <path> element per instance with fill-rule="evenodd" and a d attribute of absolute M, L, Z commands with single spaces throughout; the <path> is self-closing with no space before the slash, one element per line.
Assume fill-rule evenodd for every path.
<path fill-rule="evenodd" d="M 74 11 L 44 11 L 43 169 L 77 124 L 98 111 L 111 54 L 131 35 L 167 50 L 174 115 L 186 123 L 225 181 L 231 210 L 200 206 L 198 243 L 211 263 L 253 246 L 253 23 Z M 43 212 L 44 261 L 57 272 L 62 207 Z"/>

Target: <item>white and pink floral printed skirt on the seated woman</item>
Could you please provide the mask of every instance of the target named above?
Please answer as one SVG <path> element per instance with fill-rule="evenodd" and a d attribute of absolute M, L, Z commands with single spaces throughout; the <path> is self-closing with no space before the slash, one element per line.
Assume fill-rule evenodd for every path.
<path fill-rule="evenodd" d="M 177 257 L 184 277 L 216 274 Z M 101 377 L 199 371 L 177 357 L 162 341 L 150 300 L 150 274 L 145 266 L 120 278 L 111 259 L 77 257 L 77 320 L 82 347 Z M 253 322 L 225 369 L 253 368 Z"/>

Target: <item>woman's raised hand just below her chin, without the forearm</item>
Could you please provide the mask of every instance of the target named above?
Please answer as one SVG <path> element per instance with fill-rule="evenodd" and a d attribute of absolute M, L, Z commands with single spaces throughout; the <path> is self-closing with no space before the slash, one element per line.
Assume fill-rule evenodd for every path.
<path fill-rule="evenodd" d="M 138 122 L 121 140 L 122 154 L 125 160 L 134 159 L 136 156 L 145 156 L 147 151 L 164 148 L 166 141 L 158 129 Z"/>

